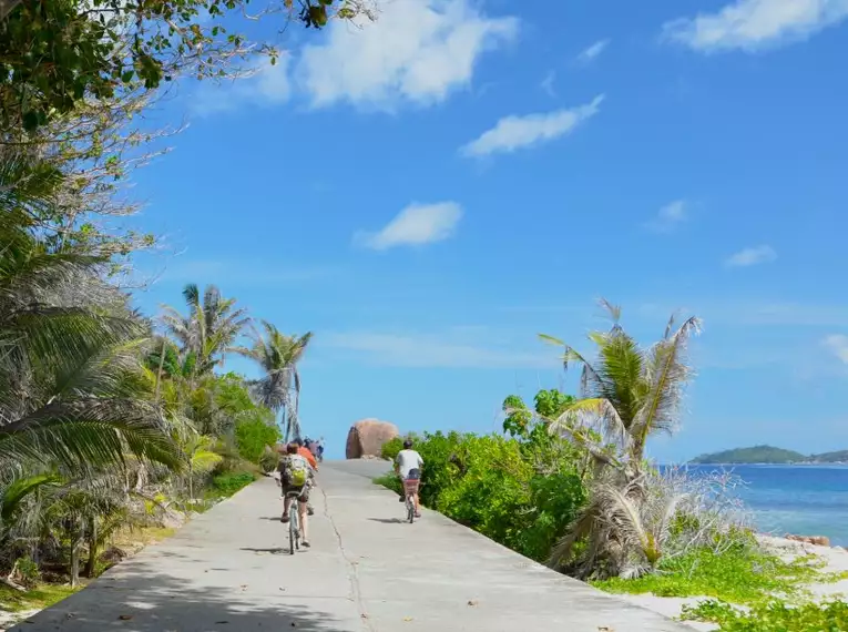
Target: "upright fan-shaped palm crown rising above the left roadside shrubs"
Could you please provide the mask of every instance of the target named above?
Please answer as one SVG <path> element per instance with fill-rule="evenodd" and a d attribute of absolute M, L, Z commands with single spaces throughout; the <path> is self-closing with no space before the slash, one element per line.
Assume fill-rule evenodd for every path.
<path fill-rule="evenodd" d="M 180 343 L 183 361 L 193 366 L 192 375 L 206 375 L 224 363 L 249 318 L 235 308 L 235 298 L 222 297 L 214 285 L 206 286 L 201 300 L 200 288 L 191 283 L 183 288 L 183 298 L 187 316 L 165 305 L 162 320 Z"/>

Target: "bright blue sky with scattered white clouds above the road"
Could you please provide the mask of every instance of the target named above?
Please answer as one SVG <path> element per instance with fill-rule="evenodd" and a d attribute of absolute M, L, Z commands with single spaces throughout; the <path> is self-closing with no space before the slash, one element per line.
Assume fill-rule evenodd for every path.
<path fill-rule="evenodd" d="M 378 6 L 159 106 L 191 125 L 136 174 L 166 245 L 140 306 L 214 283 L 313 330 L 302 416 L 335 455 L 364 417 L 489 431 L 573 390 L 537 334 L 589 350 L 602 296 L 646 344 L 704 319 L 657 459 L 848 448 L 846 0 Z"/>

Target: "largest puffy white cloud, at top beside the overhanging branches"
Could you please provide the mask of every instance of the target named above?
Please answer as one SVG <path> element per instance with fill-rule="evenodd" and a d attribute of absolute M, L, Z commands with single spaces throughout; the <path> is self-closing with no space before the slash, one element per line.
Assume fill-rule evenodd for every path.
<path fill-rule="evenodd" d="M 382 110 L 431 104 L 467 86 L 480 55 L 514 38 L 515 18 L 489 18 L 469 0 L 392 0 L 361 29 L 337 21 L 304 48 L 297 78 L 315 106 L 348 101 Z"/>

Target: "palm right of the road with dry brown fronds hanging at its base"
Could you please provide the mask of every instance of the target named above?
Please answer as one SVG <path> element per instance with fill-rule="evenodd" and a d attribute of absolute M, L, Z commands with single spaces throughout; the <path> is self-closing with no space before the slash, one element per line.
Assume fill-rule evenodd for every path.
<path fill-rule="evenodd" d="M 579 577 L 633 574 L 656 562 L 657 553 L 651 547 L 642 547 L 641 553 L 634 547 L 633 530 L 625 523 L 638 522 L 635 508 L 650 497 L 644 488 L 645 445 L 652 435 L 672 432 L 677 425 L 683 390 L 692 377 L 686 347 L 689 337 L 701 330 L 695 317 L 678 327 L 672 317 L 662 339 L 645 348 L 622 328 L 621 309 L 606 302 L 602 305 L 613 326 L 610 332 L 589 335 L 596 346 L 595 361 L 556 338 L 541 336 L 564 348 L 566 368 L 582 365 L 580 399 L 550 424 L 552 432 L 586 449 L 595 465 L 590 503 L 550 560 L 551 565 L 571 568 Z M 602 444 L 588 431 L 597 427 Z M 574 544 L 584 540 L 589 546 L 574 559 Z"/>

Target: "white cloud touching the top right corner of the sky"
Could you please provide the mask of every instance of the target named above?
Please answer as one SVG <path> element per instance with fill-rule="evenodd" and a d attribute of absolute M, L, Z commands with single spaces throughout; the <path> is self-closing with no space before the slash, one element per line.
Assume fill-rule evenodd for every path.
<path fill-rule="evenodd" d="M 663 27 L 665 38 L 702 52 L 754 51 L 804 40 L 848 18 L 848 0 L 737 0 Z"/>

